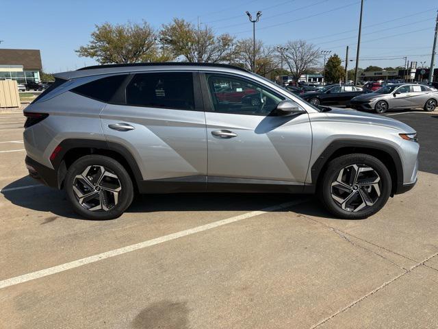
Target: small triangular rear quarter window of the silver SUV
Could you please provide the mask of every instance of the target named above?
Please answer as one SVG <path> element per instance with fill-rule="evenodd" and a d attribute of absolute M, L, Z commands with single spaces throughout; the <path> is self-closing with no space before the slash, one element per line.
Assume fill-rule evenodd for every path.
<path fill-rule="evenodd" d="M 99 80 L 88 82 L 88 84 L 82 84 L 81 86 L 74 88 L 72 91 L 85 97 L 107 102 L 112 99 L 113 95 L 118 88 L 120 88 L 120 85 L 126 77 L 126 74 L 103 77 Z"/>

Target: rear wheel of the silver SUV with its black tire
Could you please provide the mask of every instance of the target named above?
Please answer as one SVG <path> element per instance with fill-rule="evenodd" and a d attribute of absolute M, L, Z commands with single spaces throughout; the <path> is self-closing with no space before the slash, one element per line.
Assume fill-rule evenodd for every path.
<path fill-rule="evenodd" d="M 78 182 L 77 175 L 81 175 L 90 166 L 92 167 L 92 169 L 97 169 L 99 168 L 99 166 L 103 167 L 105 169 L 105 173 L 110 173 L 110 175 L 116 176 L 116 178 L 110 177 L 109 180 L 113 180 L 112 183 L 116 182 L 117 188 L 118 186 L 120 186 L 120 191 L 118 191 L 117 193 L 104 191 L 105 188 L 101 187 L 103 186 L 101 185 L 103 184 L 103 173 L 101 174 L 101 178 L 99 179 L 99 182 L 101 183 L 98 182 L 96 185 L 82 184 L 82 187 L 86 186 L 86 189 L 88 188 L 88 186 L 93 186 L 91 187 L 92 190 L 94 190 L 94 193 L 97 193 L 97 195 L 99 195 L 99 197 L 94 197 L 94 199 L 99 200 L 96 202 L 105 204 L 107 210 L 88 210 L 88 208 L 86 208 L 86 206 L 88 205 L 85 205 L 84 203 L 84 205 L 82 205 L 79 203 L 80 198 L 77 196 L 76 193 L 78 191 L 78 184 L 80 184 L 81 182 Z M 97 177 L 97 175 L 99 174 L 96 174 L 95 177 Z M 108 178 L 109 176 L 105 177 Z M 87 175 L 87 179 L 89 178 L 91 178 L 91 176 Z M 92 180 L 88 180 L 87 182 L 92 182 Z M 107 183 L 105 182 L 105 184 Z M 76 188 L 75 190 L 73 188 L 74 185 Z M 113 186 L 116 185 L 113 184 Z M 68 201 L 73 206 L 73 210 L 75 210 L 78 215 L 81 215 L 81 217 L 92 220 L 115 219 L 117 217 L 120 217 L 120 215 L 122 215 L 123 212 L 125 212 L 125 210 L 131 205 L 134 195 L 133 184 L 126 169 L 113 158 L 99 155 L 83 156 L 73 162 L 70 168 L 68 168 L 66 178 L 64 180 L 64 189 L 66 190 Z M 88 191 L 92 190 L 88 188 Z M 102 196 L 102 194 L 104 195 Z M 117 194 L 117 197 L 114 197 L 115 194 Z M 112 202 L 109 201 L 103 202 L 103 199 L 109 200 L 110 198 L 112 198 L 112 202 L 114 204 L 111 204 Z M 101 206 L 101 208 L 103 208 L 103 206 Z"/>

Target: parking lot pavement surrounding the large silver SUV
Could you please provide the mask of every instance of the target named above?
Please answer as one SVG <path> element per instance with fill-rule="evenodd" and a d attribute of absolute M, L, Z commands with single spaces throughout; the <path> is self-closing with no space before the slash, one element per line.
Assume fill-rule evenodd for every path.
<path fill-rule="evenodd" d="M 88 221 L 27 177 L 24 117 L 0 113 L 0 327 L 436 328 L 438 112 L 387 115 L 419 133 L 419 181 L 368 219 L 183 194 Z"/>

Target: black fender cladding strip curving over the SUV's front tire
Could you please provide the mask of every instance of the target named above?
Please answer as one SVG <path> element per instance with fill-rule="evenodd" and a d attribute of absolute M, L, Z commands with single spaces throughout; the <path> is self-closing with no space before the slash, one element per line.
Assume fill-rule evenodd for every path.
<path fill-rule="evenodd" d="M 363 141 L 363 140 L 346 140 L 346 141 L 333 141 L 324 151 L 318 159 L 313 163 L 311 167 L 311 180 L 312 183 L 315 184 L 318 182 L 318 178 L 320 177 L 320 173 L 324 165 L 327 161 L 335 154 L 336 151 L 342 149 L 344 147 L 348 148 L 357 148 L 358 151 L 360 149 L 374 149 L 377 151 L 383 151 L 386 154 L 389 154 L 391 159 L 394 161 L 396 167 L 396 182 L 393 182 L 393 193 L 397 194 L 397 190 L 403 186 L 403 165 L 402 160 L 400 159 L 400 155 L 398 151 L 385 143 L 378 143 L 374 141 Z M 392 176 L 392 175 L 391 175 Z"/>

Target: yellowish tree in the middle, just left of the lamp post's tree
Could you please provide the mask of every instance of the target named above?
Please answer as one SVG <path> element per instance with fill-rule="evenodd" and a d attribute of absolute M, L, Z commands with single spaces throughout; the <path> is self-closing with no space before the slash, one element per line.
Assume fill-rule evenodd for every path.
<path fill-rule="evenodd" d="M 173 56 L 183 56 L 188 62 L 224 62 L 230 60 L 234 38 L 229 34 L 215 36 L 213 29 L 202 29 L 183 19 L 173 19 L 163 25 L 160 40 Z"/>

